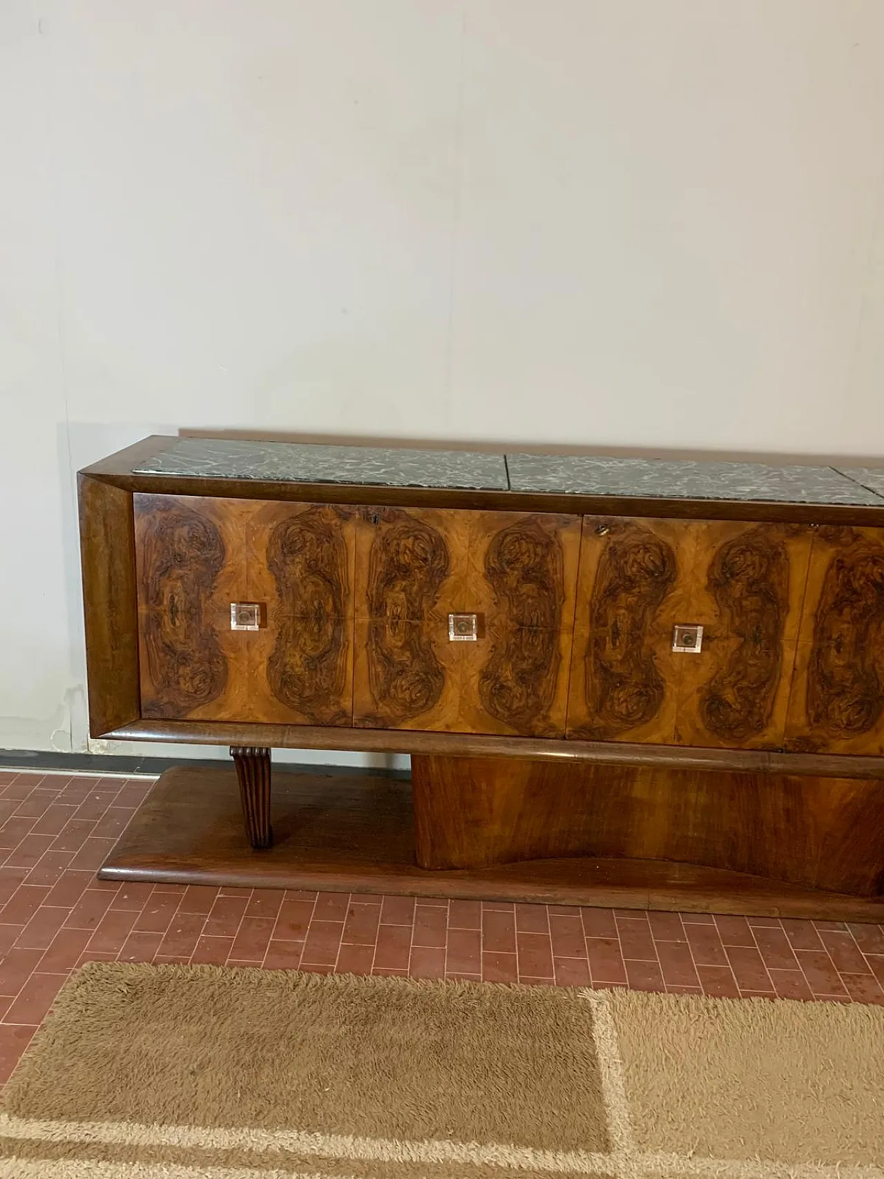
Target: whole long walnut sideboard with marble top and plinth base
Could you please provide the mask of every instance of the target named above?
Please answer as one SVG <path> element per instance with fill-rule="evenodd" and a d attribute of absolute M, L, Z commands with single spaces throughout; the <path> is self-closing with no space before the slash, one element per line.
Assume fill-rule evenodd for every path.
<path fill-rule="evenodd" d="M 92 736 L 236 768 L 166 771 L 103 875 L 884 917 L 884 468 L 151 437 L 79 477 Z M 411 780 L 271 806 L 271 747 Z"/>

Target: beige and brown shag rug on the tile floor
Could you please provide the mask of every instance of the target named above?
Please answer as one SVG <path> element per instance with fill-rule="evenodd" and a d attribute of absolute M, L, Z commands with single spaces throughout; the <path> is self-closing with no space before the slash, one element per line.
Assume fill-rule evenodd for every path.
<path fill-rule="evenodd" d="M 884 1009 L 93 963 L 14 1179 L 884 1179 Z"/>

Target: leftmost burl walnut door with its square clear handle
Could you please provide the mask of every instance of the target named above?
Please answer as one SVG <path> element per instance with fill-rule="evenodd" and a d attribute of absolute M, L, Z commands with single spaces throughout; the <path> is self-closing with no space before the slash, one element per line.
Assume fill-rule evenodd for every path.
<path fill-rule="evenodd" d="M 143 716 L 351 723 L 351 509 L 137 494 L 134 514 Z"/>

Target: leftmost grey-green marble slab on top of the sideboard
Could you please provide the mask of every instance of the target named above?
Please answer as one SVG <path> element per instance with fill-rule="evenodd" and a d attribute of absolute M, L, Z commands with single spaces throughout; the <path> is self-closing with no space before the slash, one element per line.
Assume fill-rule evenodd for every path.
<path fill-rule="evenodd" d="M 507 490 L 502 454 L 232 439 L 178 439 L 133 474 Z"/>

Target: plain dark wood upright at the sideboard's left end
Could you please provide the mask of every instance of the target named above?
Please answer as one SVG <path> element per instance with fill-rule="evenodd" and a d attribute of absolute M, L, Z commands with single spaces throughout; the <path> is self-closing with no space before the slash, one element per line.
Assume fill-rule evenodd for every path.
<path fill-rule="evenodd" d="M 86 475 L 78 492 L 90 735 L 101 737 L 140 714 L 132 496 Z"/>

